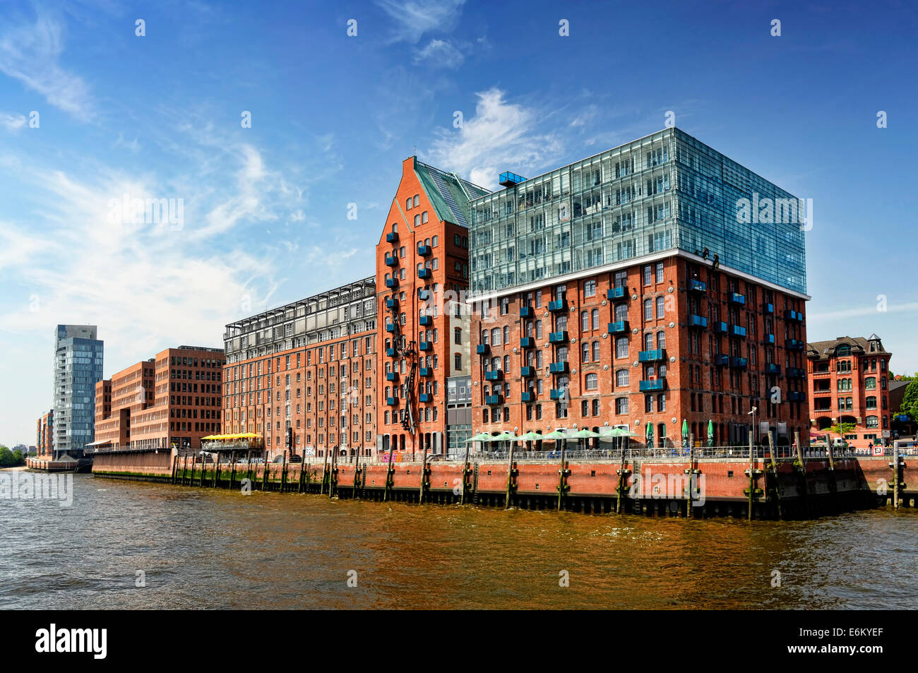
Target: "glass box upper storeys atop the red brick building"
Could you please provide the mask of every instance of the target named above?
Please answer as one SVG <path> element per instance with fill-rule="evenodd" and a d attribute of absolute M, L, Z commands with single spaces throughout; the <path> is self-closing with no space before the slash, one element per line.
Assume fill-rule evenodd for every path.
<path fill-rule="evenodd" d="M 668 250 L 806 293 L 800 200 L 664 129 L 469 204 L 471 293 L 501 294 Z"/>

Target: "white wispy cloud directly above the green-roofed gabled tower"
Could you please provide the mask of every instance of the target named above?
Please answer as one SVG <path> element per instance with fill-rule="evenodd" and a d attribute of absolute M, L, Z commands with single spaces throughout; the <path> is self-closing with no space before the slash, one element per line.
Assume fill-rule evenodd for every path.
<path fill-rule="evenodd" d="M 525 171 L 554 160 L 562 148 L 553 133 L 539 133 L 535 110 L 509 103 L 498 88 L 476 94 L 475 116 L 461 129 L 441 130 L 430 161 L 477 185 L 496 187 L 501 170 Z"/>

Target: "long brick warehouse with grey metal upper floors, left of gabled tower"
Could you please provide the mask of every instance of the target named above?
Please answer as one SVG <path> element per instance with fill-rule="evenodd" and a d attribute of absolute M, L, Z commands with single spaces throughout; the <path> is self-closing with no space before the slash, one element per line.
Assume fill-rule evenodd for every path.
<path fill-rule="evenodd" d="M 259 434 L 269 458 L 374 454 L 374 280 L 226 326 L 225 432 Z"/>

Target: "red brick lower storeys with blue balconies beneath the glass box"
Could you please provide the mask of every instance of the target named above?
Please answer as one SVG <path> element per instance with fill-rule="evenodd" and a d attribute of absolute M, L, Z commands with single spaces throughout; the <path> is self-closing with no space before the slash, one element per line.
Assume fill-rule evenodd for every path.
<path fill-rule="evenodd" d="M 669 251 L 487 297 L 473 319 L 476 430 L 627 426 L 656 446 L 809 434 L 804 298 Z"/>

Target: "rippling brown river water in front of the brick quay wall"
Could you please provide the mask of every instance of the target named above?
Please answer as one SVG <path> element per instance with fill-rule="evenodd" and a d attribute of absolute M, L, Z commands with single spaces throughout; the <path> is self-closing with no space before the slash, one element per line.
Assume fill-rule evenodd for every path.
<path fill-rule="evenodd" d="M 0 608 L 918 607 L 918 510 L 685 521 L 76 475 L 72 507 L 0 500 L 0 530 Z"/>

